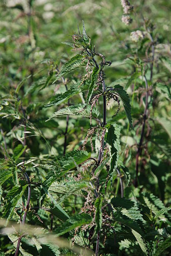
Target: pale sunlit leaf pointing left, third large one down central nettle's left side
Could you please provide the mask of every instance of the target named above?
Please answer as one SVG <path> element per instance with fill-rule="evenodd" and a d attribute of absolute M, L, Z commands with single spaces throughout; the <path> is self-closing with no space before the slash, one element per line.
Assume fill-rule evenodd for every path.
<path fill-rule="evenodd" d="M 55 112 L 53 115 L 50 116 L 50 118 L 47 121 L 51 120 L 52 118 L 58 117 L 58 116 L 65 116 L 65 115 L 78 115 L 78 116 L 84 116 L 84 117 L 91 117 L 90 107 L 88 109 L 85 108 L 85 104 L 77 104 L 75 106 L 69 106 L 67 108 L 62 108 Z M 92 118 L 98 117 L 98 110 L 95 108 L 92 111 Z"/>

